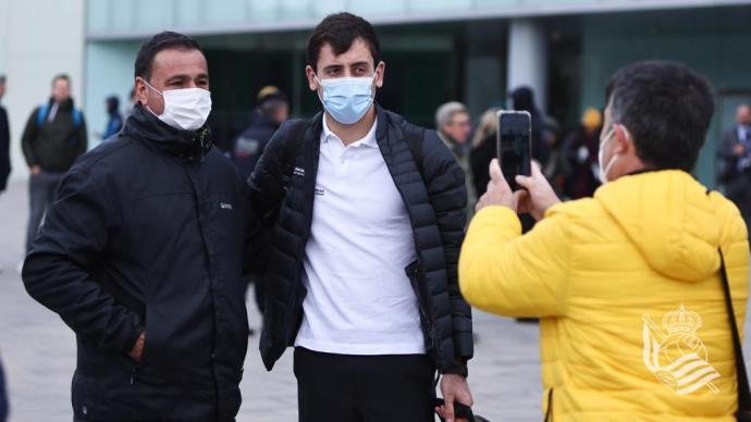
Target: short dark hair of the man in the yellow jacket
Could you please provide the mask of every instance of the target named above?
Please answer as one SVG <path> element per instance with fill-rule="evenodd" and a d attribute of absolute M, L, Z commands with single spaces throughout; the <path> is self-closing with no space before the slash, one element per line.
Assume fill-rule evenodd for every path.
<path fill-rule="evenodd" d="M 714 90 L 704 76 L 679 63 L 638 62 L 613 75 L 605 101 L 647 165 L 693 171 L 714 113 Z"/>

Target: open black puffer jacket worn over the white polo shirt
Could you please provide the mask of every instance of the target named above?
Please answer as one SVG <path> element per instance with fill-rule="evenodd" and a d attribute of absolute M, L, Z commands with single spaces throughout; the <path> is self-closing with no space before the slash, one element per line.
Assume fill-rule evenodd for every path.
<path fill-rule="evenodd" d="M 378 146 L 413 223 L 418 261 L 405 271 L 418 297 L 426 349 L 436 369 L 450 371 L 456 360 L 472 357 L 471 310 L 457 283 L 466 222 L 464 172 L 435 132 L 409 125 L 380 107 L 377 111 Z M 303 318 L 300 275 L 312 222 L 321 119 L 319 113 L 310 121 L 285 123 L 250 177 L 254 209 L 275 219 L 260 344 L 269 370 L 294 343 Z M 298 132 L 301 142 L 294 139 Z M 415 140 L 414 153 L 405 134 Z"/>

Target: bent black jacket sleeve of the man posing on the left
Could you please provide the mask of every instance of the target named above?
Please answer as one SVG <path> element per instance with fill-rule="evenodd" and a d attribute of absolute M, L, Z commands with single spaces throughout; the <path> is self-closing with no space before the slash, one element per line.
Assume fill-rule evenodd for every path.
<path fill-rule="evenodd" d="M 89 272 L 103 258 L 110 231 L 120 224 L 103 193 L 81 169 L 65 175 L 22 277 L 26 291 L 60 314 L 84 342 L 125 353 L 140 332 L 140 318 L 115 302 Z"/>

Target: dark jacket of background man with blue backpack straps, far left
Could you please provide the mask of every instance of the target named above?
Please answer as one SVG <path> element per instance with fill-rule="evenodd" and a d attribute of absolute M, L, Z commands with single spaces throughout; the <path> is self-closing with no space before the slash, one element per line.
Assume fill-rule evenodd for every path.
<path fill-rule="evenodd" d="M 48 113 L 52 107 L 50 99 Z M 54 119 L 50 122 L 48 114 L 41 125 L 37 121 L 39 108 L 34 109 L 21 137 L 21 146 L 29 167 L 39 165 L 46 172 L 64 173 L 86 152 L 86 120 L 81 113 L 81 123 L 76 126 L 73 108 L 72 99 L 61 102 Z"/>

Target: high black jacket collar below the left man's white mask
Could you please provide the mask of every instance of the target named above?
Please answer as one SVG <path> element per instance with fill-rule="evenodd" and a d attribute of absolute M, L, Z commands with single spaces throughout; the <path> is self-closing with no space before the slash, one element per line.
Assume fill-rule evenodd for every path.
<path fill-rule="evenodd" d="M 133 114 L 121 134 L 138 138 L 159 152 L 188 161 L 202 161 L 213 146 L 211 131 L 207 125 L 198 131 L 176 129 L 160 121 L 140 103 L 133 108 Z"/>

